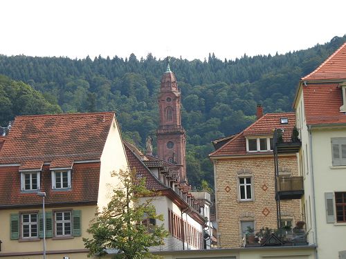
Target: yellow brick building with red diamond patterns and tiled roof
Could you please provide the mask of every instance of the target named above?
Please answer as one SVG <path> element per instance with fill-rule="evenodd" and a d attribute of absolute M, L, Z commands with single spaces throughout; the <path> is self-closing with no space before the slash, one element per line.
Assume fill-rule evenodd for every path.
<path fill-rule="evenodd" d="M 282 118 L 288 123 L 282 124 Z M 273 130 L 284 128 L 284 137 L 289 137 L 294 124 L 294 113 L 266 114 L 210 154 L 219 247 L 242 246 L 248 227 L 277 228 Z M 279 175 L 298 176 L 295 154 L 280 156 Z M 282 200 L 281 216 L 283 224 L 294 226 L 302 218 L 300 201 Z"/>

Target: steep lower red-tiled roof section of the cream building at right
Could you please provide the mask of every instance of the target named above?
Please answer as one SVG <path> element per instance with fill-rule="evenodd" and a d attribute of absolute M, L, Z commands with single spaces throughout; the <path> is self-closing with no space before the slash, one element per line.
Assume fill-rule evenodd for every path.
<path fill-rule="evenodd" d="M 338 84 L 308 84 L 302 90 L 307 124 L 346 123 L 345 113 L 340 113 L 343 99 Z"/>

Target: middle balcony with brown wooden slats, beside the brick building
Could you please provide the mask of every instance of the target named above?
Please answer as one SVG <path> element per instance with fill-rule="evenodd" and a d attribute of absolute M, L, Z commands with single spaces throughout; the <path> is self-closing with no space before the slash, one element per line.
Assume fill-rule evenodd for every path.
<path fill-rule="evenodd" d="M 302 176 L 286 176 L 277 178 L 276 199 L 292 200 L 300 199 L 304 194 L 304 184 Z"/>

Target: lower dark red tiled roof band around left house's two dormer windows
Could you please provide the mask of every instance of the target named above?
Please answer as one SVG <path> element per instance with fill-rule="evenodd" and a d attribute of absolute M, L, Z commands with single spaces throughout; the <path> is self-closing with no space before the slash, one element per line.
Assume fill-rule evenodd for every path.
<path fill-rule="evenodd" d="M 37 207 L 42 205 L 42 198 L 36 193 L 21 192 L 21 180 L 18 166 L 0 167 L 0 208 Z M 41 173 L 41 190 L 46 192 L 46 207 L 61 204 L 97 204 L 98 184 L 100 179 L 100 162 L 74 164 L 71 173 L 71 189 L 52 190 L 51 171 L 44 166 Z M 10 188 L 9 188 L 10 186 Z"/>

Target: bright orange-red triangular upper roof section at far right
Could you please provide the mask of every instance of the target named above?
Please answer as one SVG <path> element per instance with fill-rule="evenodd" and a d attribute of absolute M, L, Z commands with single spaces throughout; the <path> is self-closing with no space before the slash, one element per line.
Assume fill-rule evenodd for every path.
<path fill-rule="evenodd" d="M 346 42 L 302 80 L 346 79 Z"/>

